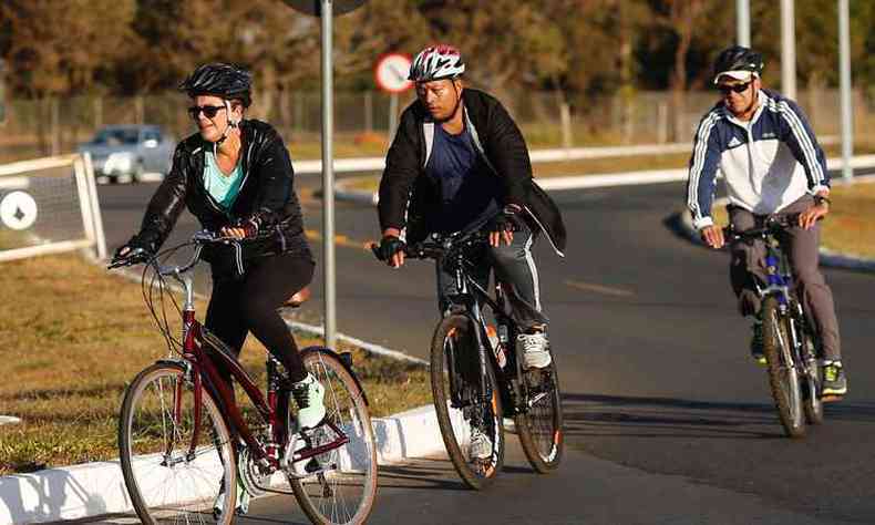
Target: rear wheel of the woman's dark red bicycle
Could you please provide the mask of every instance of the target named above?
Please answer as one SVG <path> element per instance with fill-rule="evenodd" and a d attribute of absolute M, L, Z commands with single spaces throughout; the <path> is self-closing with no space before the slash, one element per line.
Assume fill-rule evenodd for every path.
<path fill-rule="evenodd" d="M 364 393 L 334 352 L 309 348 L 301 359 L 326 389 L 326 418 L 341 428 L 350 442 L 316 457 L 322 463 L 333 461 L 339 469 L 328 475 L 289 476 L 289 484 L 313 523 L 362 524 L 373 508 L 378 483 L 377 443 Z"/>

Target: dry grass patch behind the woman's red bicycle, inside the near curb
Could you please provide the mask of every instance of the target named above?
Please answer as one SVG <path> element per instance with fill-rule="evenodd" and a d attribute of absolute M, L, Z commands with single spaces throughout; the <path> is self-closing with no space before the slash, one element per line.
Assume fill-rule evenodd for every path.
<path fill-rule="evenodd" d="M 117 457 L 126 383 L 167 353 L 140 285 L 66 255 L 4 262 L 0 291 L 8 378 L 0 382 L 0 414 L 22 420 L 0 426 L 0 475 Z M 296 337 L 300 347 L 321 342 Z M 347 350 L 373 415 L 431 402 L 424 368 Z M 243 362 L 256 377 L 264 356 L 249 338 Z"/>

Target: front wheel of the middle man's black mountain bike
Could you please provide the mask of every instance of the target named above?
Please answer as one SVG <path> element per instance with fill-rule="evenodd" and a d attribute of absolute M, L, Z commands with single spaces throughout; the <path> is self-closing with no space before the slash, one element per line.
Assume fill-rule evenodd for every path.
<path fill-rule="evenodd" d="M 477 348 L 473 330 L 476 328 L 471 318 L 462 315 L 449 316 L 437 325 L 432 339 L 431 383 L 437 425 L 450 461 L 465 485 L 480 491 L 490 485 L 504 464 L 504 422 L 498 382 L 495 379 L 492 361 L 487 359 L 486 378 L 492 389 L 492 402 L 486 406 L 474 403 L 461 411 L 451 408 L 450 390 L 452 385 L 449 372 L 450 353 L 447 352 L 450 349 L 453 350 L 456 391 L 466 389 L 465 395 L 469 399 L 477 399 L 481 375 L 480 367 L 475 361 Z M 456 348 L 460 350 L 456 351 Z M 485 415 L 484 419 L 486 419 L 484 433 L 492 444 L 492 454 L 486 460 L 477 460 L 470 457 L 471 454 L 467 451 L 471 436 L 470 421 L 472 416 L 477 416 L 476 411 L 484 409 L 486 414 L 480 414 L 480 416 Z M 457 436 L 456 433 L 460 435 Z"/>

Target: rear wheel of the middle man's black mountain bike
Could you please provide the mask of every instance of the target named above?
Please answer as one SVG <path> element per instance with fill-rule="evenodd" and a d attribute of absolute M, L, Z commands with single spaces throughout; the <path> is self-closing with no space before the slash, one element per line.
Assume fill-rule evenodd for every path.
<path fill-rule="evenodd" d="M 546 369 L 524 372 L 523 379 L 528 382 L 529 392 L 539 393 L 527 413 L 514 418 L 514 424 L 528 463 L 535 472 L 547 474 L 559 466 L 565 450 L 556 359 Z"/>

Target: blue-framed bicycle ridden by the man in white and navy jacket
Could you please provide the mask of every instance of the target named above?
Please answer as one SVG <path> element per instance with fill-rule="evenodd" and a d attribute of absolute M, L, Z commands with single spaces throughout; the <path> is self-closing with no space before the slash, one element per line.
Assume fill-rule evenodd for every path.
<path fill-rule="evenodd" d="M 756 282 L 762 298 L 763 353 L 781 424 L 787 436 L 805 435 L 805 420 L 823 422 L 819 339 L 796 296 L 793 275 L 780 239 L 784 230 L 799 224 L 799 216 L 770 216 L 760 228 L 742 233 L 725 229 L 730 240 L 765 243 L 768 282 Z M 756 279 L 754 279 L 756 281 Z M 804 415 L 804 416 L 803 416 Z"/>

